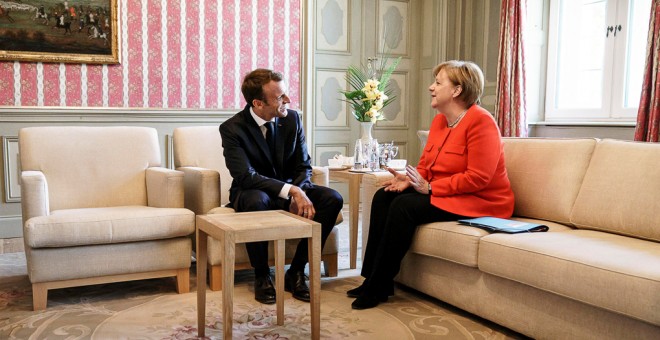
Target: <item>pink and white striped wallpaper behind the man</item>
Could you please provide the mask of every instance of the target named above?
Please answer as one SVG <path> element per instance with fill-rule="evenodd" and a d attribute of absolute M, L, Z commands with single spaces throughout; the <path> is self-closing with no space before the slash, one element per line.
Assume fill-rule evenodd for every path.
<path fill-rule="evenodd" d="M 300 107 L 300 1 L 118 1 L 119 65 L 0 62 L 0 105 L 229 109 L 243 76 L 284 73 Z"/>

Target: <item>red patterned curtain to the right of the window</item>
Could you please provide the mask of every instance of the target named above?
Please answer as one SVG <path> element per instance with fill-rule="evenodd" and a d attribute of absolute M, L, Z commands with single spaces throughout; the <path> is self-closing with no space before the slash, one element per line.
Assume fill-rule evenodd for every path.
<path fill-rule="evenodd" d="M 646 45 L 644 83 L 637 111 L 635 140 L 658 142 L 660 140 L 660 0 L 653 0 L 649 35 Z"/>

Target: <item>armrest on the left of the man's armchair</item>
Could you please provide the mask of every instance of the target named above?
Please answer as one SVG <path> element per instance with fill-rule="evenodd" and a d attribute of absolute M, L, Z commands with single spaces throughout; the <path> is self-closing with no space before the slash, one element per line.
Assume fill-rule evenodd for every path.
<path fill-rule="evenodd" d="M 204 215 L 220 202 L 220 174 L 211 169 L 184 166 L 185 206 L 197 215 Z"/>

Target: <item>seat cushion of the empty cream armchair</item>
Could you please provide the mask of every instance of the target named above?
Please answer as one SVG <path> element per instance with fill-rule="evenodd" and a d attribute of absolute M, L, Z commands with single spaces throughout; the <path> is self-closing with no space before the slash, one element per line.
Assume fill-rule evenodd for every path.
<path fill-rule="evenodd" d="M 53 211 L 25 223 L 31 248 L 159 240 L 195 232 L 195 214 L 183 208 L 125 206 Z"/>

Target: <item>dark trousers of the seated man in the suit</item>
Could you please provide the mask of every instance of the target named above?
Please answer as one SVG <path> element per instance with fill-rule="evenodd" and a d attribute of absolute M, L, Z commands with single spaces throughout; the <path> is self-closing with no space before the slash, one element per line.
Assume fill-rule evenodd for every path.
<path fill-rule="evenodd" d="M 321 223 L 321 249 L 325 245 L 332 228 L 337 221 L 337 215 L 341 211 L 344 200 L 334 189 L 314 185 L 305 190 L 305 194 L 314 204 L 316 215 L 314 221 Z M 268 196 L 261 190 L 244 190 L 238 196 L 232 206 L 237 212 L 263 211 L 263 210 L 285 210 L 289 211 L 290 200 L 280 197 Z M 268 267 L 268 241 L 250 242 L 245 244 L 250 264 L 254 268 L 255 275 L 265 275 L 269 272 Z M 304 270 L 308 261 L 307 240 L 301 240 L 296 248 L 296 253 L 291 260 L 291 268 Z"/>

